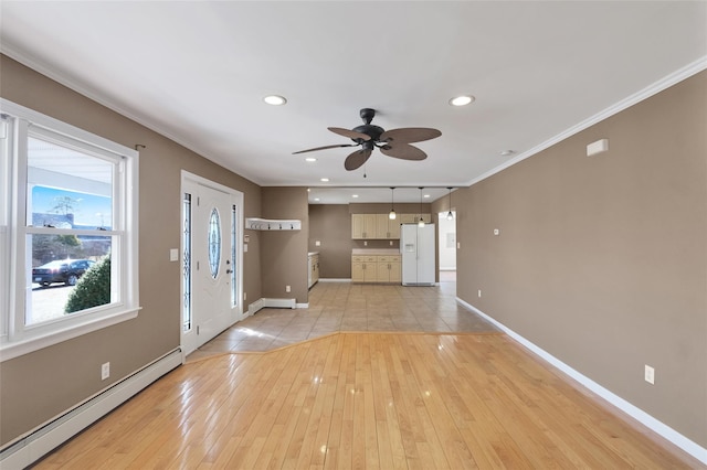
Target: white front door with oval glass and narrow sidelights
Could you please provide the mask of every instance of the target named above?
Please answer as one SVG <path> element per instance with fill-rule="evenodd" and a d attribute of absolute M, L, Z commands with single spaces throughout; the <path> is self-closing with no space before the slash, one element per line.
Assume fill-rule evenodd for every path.
<path fill-rule="evenodd" d="M 182 345 L 189 354 L 241 320 L 239 205 L 232 193 L 187 182 L 184 215 Z"/>

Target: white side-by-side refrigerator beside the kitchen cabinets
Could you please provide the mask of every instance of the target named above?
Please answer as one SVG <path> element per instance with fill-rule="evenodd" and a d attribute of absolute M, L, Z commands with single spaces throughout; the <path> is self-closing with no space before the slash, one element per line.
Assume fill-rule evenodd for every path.
<path fill-rule="evenodd" d="M 434 224 L 402 224 L 400 254 L 403 286 L 434 286 Z"/>

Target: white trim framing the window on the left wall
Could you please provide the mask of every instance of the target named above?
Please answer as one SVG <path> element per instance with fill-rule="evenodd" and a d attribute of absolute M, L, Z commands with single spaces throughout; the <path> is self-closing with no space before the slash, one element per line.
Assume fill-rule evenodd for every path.
<path fill-rule="evenodd" d="M 18 169 L 12 167 L 12 162 L 9 162 L 10 168 L 4 170 L 7 171 L 6 179 L 12 193 L 10 194 L 10 201 L 4 201 L 4 206 L 0 207 L 0 218 L 2 218 L 0 220 L 0 232 L 6 236 L 4 242 L 0 239 L 0 243 L 2 243 L 0 249 L 3 250 L 0 254 L 0 259 L 7 259 L 10 267 L 4 273 L 7 282 L 0 285 L 0 289 L 2 289 L 0 292 L 2 296 L 0 297 L 6 299 L 6 303 L 0 306 L 0 314 L 6 316 L 2 324 L 8 329 L 7 334 L 4 334 L 4 331 L 1 332 L 3 335 L 0 340 L 0 362 L 3 362 L 137 317 L 140 310 L 138 279 L 139 152 L 3 98 L 0 98 L 0 111 L 18 119 L 20 125 L 32 122 L 33 126 L 49 129 L 113 154 L 123 156 L 125 178 L 117 183 L 123 184 L 120 192 L 125 195 L 125 206 L 122 212 L 125 216 L 123 228 L 126 232 L 126 235 L 123 236 L 123 242 L 126 246 L 123 246 L 120 252 L 120 282 L 124 286 L 120 303 L 113 305 L 107 309 L 89 309 L 71 318 L 57 319 L 36 327 L 15 328 L 14 323 L 19 318 L 18 296 L 22 295 L 24 279 L 27 278 L 24 275 L 24 257 L 19 256 L 17 249 L 20 246 L 18 237 L 23 236 L 24 231 L 24 214 L 20 213 L 20 197 L 24 197 L 21 192 L 24 190 L 25 180 L 20 178 Z M 17 131 L 14 133 L 17 138 Z M 20 145 L 27 145 L 27 142 L 15 139 L 13 152 L 17 151 Z M 20 305 L 23 303 L 20 302 Z"/>

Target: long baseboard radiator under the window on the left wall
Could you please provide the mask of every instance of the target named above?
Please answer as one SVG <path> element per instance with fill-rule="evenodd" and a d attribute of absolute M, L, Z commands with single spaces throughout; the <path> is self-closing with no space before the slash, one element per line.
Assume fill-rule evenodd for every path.
<path fill-rule="evenodd" d="M 50 423 L 38 427 L 0 451 L 0 468 L 23 469 L 38 461 L 181 363 L 181 349 L 177 348 Z"/>

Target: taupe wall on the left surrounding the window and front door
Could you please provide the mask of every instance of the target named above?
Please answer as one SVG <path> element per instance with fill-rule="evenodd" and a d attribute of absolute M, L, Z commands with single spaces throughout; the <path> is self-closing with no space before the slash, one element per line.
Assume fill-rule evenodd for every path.
<path fill-rule="evenodd" d="M 261 215 L 261 190 L 190 150 L 57 83 L 0 56 L 0 95 L 126 147 L 140 150 L 140 305 L 138 318 L 0 364 L 0 444 L 8 442 L 110 382 L 171 351 L 180 341 L 180 171 L 184 169 L 244 193 L 245 215 Z M 306 207 L 306 202 L 305 202 Z M 306 210 L 306 209 L 305 209 Z M 244 289 L 261 297 L 258 241 L 244 255 Z M 306 248 L 305 248 L 306 249 Z"/>

